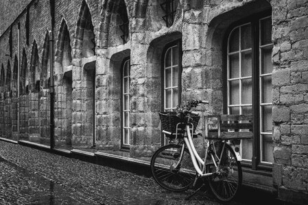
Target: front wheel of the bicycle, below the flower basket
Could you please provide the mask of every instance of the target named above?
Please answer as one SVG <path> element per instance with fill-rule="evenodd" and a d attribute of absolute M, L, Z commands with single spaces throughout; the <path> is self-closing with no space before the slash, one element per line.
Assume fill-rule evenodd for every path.
<path fill-rule="evenodd" d="M 193 183 L 194 172 L 191 157 L 187 148 L 169 144 L 154 152 L 151 159 L 151 170 L 154 180 L 169 191 L 185 191 Z"/>

